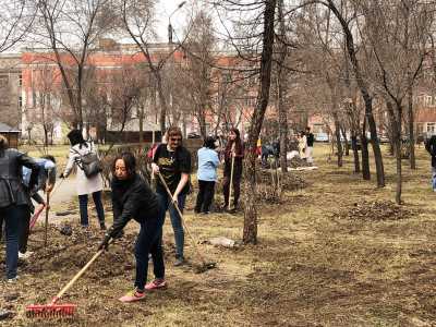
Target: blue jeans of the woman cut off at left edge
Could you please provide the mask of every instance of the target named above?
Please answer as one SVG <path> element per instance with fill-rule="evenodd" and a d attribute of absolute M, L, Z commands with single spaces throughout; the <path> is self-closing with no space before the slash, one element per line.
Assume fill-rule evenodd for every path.
<path fill-rule="evenodd" d="M 26 210 L 28 210 L 27 206 L 16 205 L 0 208 L 0 220 L 5 222 L 8 279 L 16 277 L 20 219 L 24 219 Z"/>

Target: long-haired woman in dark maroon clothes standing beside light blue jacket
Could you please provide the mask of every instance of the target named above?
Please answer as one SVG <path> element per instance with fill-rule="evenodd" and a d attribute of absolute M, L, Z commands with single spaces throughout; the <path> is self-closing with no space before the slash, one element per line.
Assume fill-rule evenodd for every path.
<path fill-rule="evenodd" d="M 242 161 L 244 158 L 244 146 L 241 141 L 241 134 L 238 129 L 231 129 L 229 134 L 229 142 L 225 149 L 225 172 L 222 191 L 225 195 L 223 209 L 227 209 L 230 203 L 230 177 L 232 157 L 234 157 L 233 166 L 233 210 L 238 208 L 239 196 L 241 193 L 241 178 L 242 178 Z"/>

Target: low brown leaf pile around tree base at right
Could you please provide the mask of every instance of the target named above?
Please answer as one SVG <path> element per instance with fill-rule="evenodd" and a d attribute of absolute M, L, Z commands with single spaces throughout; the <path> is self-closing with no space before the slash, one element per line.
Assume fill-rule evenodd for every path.
<path fill-rule="evenodd" d="M 413 216 L 414 213 L 391 201 L 363 201 L 334 214 L 334 217 L 355 220 L 400 220 Z"/>

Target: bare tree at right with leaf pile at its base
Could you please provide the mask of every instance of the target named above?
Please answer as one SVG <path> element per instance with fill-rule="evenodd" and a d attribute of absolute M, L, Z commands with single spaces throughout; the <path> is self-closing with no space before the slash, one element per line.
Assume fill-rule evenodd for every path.
<path fill-rule="evenodd" d="M 435 4 L 400 1 L 387 5 L 368 1 L 360 5 L 366 22 L 362 36 L 376 58 L 374 82 L 386 99 L 391 121 L 397 158 L 396 202 L 400 204 L 403 108 L 405 102 L 410 106 L 408 97 L 411 98 L 413 84 L 426 56 Z M 413 109 L 409 106 L 409 121 L 412 122 L 409 133 L 412 138 L 410 142 L 413 143 Z"/>

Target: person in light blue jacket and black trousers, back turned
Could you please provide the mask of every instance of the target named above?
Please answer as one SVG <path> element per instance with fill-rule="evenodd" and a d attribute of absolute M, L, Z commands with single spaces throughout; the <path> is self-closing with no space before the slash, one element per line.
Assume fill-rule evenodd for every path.
<path fill-rule="evenodd" d="M 195 213 L 209 214 L 214 201 L 215 182 L 217 181 L 218 154 L 215 150 L 215 138 L 206 137 L 203 147 L 198 150 L 198 195 Z"/>

